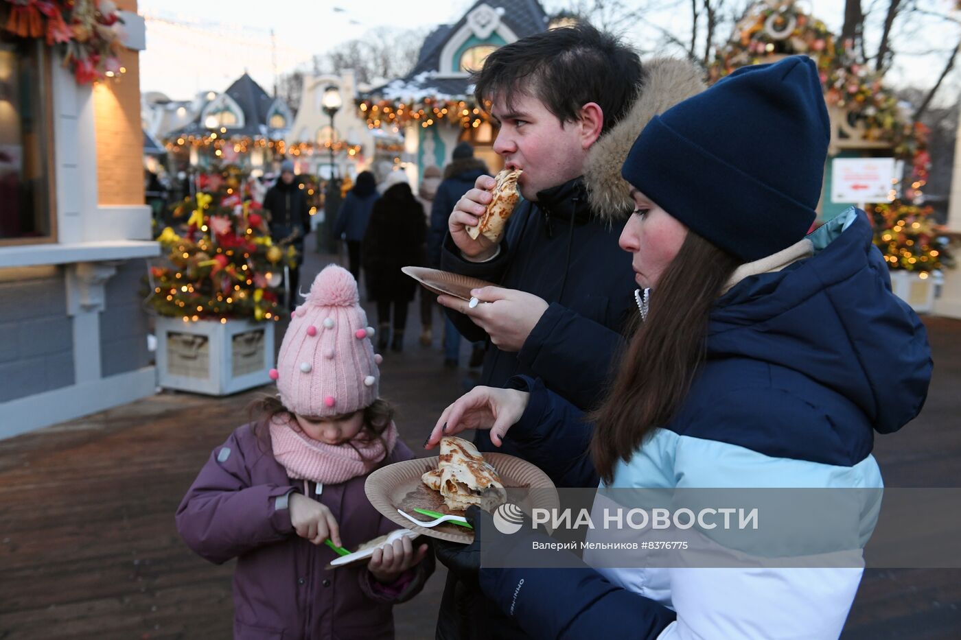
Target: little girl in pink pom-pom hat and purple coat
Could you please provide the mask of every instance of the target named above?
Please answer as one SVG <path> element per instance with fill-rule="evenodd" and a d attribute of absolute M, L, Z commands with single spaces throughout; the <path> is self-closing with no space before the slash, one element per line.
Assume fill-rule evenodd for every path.
<path fill-rule="evenodd" d="M 237 558 L 234 638 L 392 638 L 391 607 L 433 571 L 409 537 L 367 565 L 326 570 L 325 541 L 356 549 L 398 529 L 370 504 L 364 480 L 413 457 L 378 397 L 381 357 L 357 282 L 330 265 L 283 336 L 262 416 L 213 450 L 177 511 L 187 545 L 212 562 Z"/>

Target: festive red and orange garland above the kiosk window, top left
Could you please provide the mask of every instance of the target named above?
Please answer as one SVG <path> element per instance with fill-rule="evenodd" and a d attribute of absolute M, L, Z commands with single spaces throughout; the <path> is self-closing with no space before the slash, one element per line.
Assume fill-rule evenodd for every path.
<path fill-rule="evenodd" d="M 14 36 L 59 46 L 78 84 L 127 71 L 117 57 L 123 19 L 111 0 L 3 0 L 0 23 Z"/>

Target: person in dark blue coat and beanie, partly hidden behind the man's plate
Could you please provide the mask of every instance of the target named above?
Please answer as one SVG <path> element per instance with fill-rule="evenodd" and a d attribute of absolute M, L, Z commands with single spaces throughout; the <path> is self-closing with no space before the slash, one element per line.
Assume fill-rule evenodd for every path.
<path fill-rule="evenodd" d="M 428 259 L 431 267 L 440 268 L 441 246 L 447 234 L 447 218 L 454 210 L 460 196 L 469 191 L 480 176 L 487 174 L 487 164 L 474 157 L 470 142 L 461 142 L 454 148 L 451 162 L 444 167 L 444 181 L 437 187 L 431 205 L 431 232 L 428 237 Z M 475 343 L 471 357 L 483 356 L 483 341 Z M 444 314 L 444 366 L 454 368 L 460 357 L 460 332 L 449 314 Z"/>

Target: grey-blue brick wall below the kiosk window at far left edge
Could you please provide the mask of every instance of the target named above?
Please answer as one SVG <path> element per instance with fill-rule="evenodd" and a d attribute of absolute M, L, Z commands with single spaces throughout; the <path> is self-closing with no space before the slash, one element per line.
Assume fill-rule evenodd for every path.
<path fill-rule="evenodd" d="M 74 383 L 62 267 L 0 269 L 0 403 Z"/>

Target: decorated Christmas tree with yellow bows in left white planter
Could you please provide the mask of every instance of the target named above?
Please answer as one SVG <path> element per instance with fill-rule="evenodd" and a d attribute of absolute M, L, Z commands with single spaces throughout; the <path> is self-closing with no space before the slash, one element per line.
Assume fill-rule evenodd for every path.
<path fill-rule="evenodd" d="M 166 258 L 150 269 L 151 306 L 185 322 L 278 320 L 283 266 L 294 248 L 271 241 L 235 167 L 201 182 L 215 191 L 186 198 L 174 210 L 175 219 L 186 218 L 180 233 L 167 227 L 157 238 Z"/>

